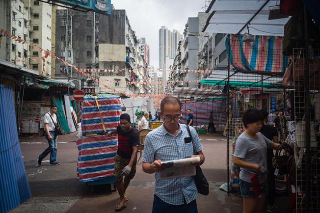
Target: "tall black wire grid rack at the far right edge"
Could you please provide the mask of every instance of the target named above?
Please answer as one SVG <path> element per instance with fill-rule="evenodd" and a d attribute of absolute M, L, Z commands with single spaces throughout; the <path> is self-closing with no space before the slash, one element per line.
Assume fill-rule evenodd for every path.
<path fill-rule="evenodd" d="M 296 212 L 320 209 L 320 50 L 293 49 Z"/>

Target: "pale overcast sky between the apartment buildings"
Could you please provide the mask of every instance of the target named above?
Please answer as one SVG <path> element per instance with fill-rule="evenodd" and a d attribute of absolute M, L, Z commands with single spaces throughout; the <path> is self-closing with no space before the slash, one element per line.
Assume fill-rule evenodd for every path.
<path fill-rule="evenodd" d="M 111 0 L 115 9 L 125 9 L 138 38 L 150 46 L 150 65 L 159 67 L 159 29 L 185 29 L 188 17 L 203 12 L 205 0 Z"/>

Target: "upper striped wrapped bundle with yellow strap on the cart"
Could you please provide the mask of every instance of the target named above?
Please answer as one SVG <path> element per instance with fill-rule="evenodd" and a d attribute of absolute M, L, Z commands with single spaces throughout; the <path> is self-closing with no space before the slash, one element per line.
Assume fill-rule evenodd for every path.
<path fill-rule="evenodd" d="M 107 132 L 113 131 L 120 122 L 121 99 L 118 96 L 98 95 L 98 106 L 92 95 L 86 95 L 82 104 L 81 130 L 82 135 L 97 134 L 104 131 L 101 116 Z"/>

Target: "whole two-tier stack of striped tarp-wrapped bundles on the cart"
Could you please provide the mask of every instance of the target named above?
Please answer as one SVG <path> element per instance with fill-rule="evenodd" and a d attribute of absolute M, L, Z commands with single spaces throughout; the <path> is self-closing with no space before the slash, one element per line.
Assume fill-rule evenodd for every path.
<path fill-rule="evenodd" d="M 120 123 L 121 99 L 118 96 L 100 94 L 87 95 L 82 103 L 81 130 L 84 137 L 77 140 L 79 150 L 77 174 L 80 182 L 97 181 L 114 172 L 114 156 L 118 149 L 117 136 L 88 134 L 103 133 L 103 118 L 107 132 L 114 131 Z"/>

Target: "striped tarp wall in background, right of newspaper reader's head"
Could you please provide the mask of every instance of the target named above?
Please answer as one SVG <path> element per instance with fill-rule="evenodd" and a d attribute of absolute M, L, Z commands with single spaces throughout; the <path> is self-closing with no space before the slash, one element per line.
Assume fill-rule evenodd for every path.
<path fill-rule="evenodd" d="M 206 102 L 182 103 L 182 119 L 180 123 L 186 124 L 187 110 L 193 114 L 193 125 L 208 125 L 210 112 L 213 111 L 214 125 L 225 125 L 227 123 L 226 100 L 213 100 Z"/>

